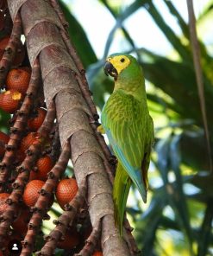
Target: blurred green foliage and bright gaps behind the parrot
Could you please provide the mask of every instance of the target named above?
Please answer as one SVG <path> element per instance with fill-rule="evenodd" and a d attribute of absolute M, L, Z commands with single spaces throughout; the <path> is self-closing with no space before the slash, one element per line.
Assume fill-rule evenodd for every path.
<path fill-rule="evenodd" d="M 133 188 L 128 197 L 128 219 L 135 228 L 134 235 L 143 255 L 213 255 L 213 176 L 210 173 L 207 146 L 204 138 L 202 115 L 197 93 L 197 83 L 191 57 L 191 45 L 187 20 L 186 3 L 182 2 L 183 13 L 175 6 L 177 1 L 167 0 L 87 0 L 85 6 L 76 12 L 77 1 L 62 1 L 60 5 L 69 22 L 69 34 L 78 55 L 83 61 L 93 99 L 101 112 L 103 104 L 113 90 L 113 81 L 103 74 L 104 59 L 117 51 L 135 55 L 140 61 L 146 79 L 147 100 L 155 126 L 152 163 L 149 170 L 149 193 L 145 205 Z M 184 3 L 183 3 L 184 2 Z M 203 1 L 194 1 L 194 3 Z M 204 95 L 206 115 L 213 132 L 213 44 L 212 35 L 213 1 L 204 1 L 198 6 L 197 33 L 201 47 L 201 62 L 204 74 Z M 94 13 L 86 10 L 86 4 L 94 7 Z M 160 5 L 161 4 L 161 5 Z M 99 17 L 91 31 L 97 38 L 89 40 L 89 29 L 81 23 L 81 17 L 91 20 L 96 16 L 96 6 L 108 13 L 114 25 L 108 36 L 103 37 L 102 24 L 107 23 Z M 98 10 L 97 10 L 98 11 Z M 141 11 L 141 12 L 140 12 Z M 165 15 L 165 13 L 167 14 Z M 80 13 L 80 15 L 79 15 Z M 142 16 L 150 16 L 157 30 L 152 34 L 150 50 L 135 43 L 136 39 L 147 40 L 141 32 L 146 26 Z M 136 16 L 131 26 L 130 17 Z M 104 16 L 103 16 L 104 18 Z M 110 20 L 109 20 L 110 22 Z M 170 26 L 175 22 L 175 26 Z M 134 28 L 133 28 L 134 27 Z M 137 38 L 131 33 L 137 29 Z M 148 31 L 149 28 L 147 28 Z M 156 32 L 156 36 L 155 36 Z M 97 44 L 104 42 L 103 54 L 97 54 Z M 94 42 L 97 41 L 97 44 Z M 169 51 L 160 51 L 170 47 Z M 159 50 L 159 51 L 158 51 Z M 1 113 L 1 131 L 5 131 L 8 116 Z M 210 136 L 212 144 L 212 136 Z M 67 170 L 67 174 L 69 174 Z M 60 214 L 53 206 L 53 218 Z M 53 228 L 50 221 L 44 224 L 44 233 Z"/>

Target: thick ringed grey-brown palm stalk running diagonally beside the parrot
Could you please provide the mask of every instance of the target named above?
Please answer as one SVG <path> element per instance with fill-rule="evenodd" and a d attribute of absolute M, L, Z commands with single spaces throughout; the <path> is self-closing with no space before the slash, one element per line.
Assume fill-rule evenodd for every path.
<path fill-rule="evenodd" d="M 65 32 L 59 16 L 45 0 L 9 0 L 13 19 L 21 13 L 31 67 L 39 56 L 47 107 L 55 102 L 60 143 L 68 140 L 78 185 L 86 178 L 87 203 L 92 227 L 101 222 L 103 255 L 129 255 L 128 247 L 114 223 L 112 188 L 104 168 L 103 150 L 91 128 L 91 109 L 79 88 L 82 79 L 75 60 L 61 36 Z"/>

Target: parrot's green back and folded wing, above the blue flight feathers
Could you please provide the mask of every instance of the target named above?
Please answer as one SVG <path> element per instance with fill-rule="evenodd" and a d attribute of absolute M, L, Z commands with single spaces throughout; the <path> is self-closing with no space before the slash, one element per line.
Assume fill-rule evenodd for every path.
<path fill-rule="evenodd" d="M 146 110 L 141 102 L 122 90 L 112 93 L 103 107 L 102 124 L 110 144 L 115 154 L 116 145 L 122 150 L 122 155 L 133 168 L 141 168 L 144 155 Z"/>

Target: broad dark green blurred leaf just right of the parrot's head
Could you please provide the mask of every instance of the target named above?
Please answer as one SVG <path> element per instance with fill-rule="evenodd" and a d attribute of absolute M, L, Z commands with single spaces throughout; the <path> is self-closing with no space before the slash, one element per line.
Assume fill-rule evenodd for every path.
<path fill-rule="evenodd" d="M 185 62 L 170 61 L 165 57 L 151 54 L 145 49 L 143 49 L 143 53 L 151 58 L 150 61 L 141 63 L 146 79 L 174 99 L 178 104 L 179 113 L 184 118 L 194 118 L 197 125 L 203 126 L 193 67 Z M 210 131 L 213 131 L 213 119 L 211 118 L 213 87 L 210 86 L 208 80 L 205 80 L 204 86 L 207 117 Z"/>

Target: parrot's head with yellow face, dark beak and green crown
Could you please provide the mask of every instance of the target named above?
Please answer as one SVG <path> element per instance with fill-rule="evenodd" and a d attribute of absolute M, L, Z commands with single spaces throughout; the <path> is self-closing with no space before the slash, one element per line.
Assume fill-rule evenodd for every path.
<path fill-rule="evenodd" d="M 129 54 L 111 54 L 106 59 L 103 70 L 106 75 L 110 74 L 114 80 L 117 80 L 117 78 L 121 76 L 129 77 L 130 75 L 131 77 L 133 70 L 139 70 L 141 73 L 140 65 L 135 58 Z"/>

